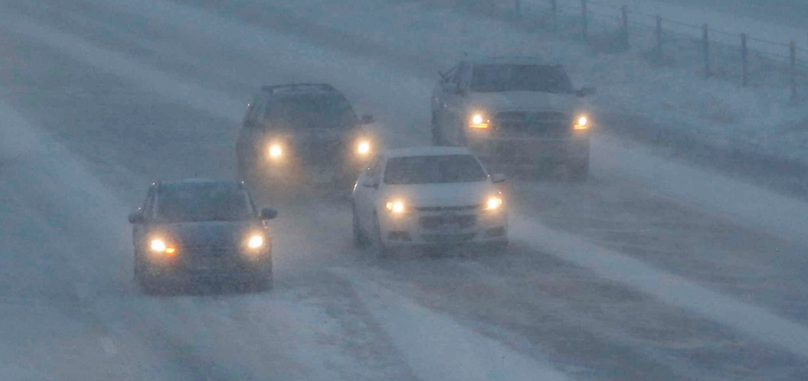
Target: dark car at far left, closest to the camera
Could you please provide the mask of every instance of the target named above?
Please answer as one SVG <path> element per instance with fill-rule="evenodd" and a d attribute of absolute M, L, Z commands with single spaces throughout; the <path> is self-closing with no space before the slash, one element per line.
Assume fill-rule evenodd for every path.
<path fill-rule="evenodd" d="M 226 278 L 271 286 L 272 249 L 266 220 L 241 182 L 155 182 L 133 224 L 134 270 L 141 288 Z"/>

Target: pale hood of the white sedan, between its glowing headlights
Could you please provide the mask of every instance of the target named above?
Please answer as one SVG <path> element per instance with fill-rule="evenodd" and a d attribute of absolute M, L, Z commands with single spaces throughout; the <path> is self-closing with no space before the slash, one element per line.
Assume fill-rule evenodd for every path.
<path fill-rule="evenodd" d="M 491 182 L 386 186 L 382 203 L 402 200 L 410 207 L 465 207 L 483 203 L 496 190 Z"/>

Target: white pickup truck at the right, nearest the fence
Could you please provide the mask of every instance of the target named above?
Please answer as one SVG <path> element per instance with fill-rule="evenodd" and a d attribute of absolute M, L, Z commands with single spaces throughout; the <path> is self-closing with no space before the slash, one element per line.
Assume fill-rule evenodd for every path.
<path fill-rule="evenodd" d="M 460 61 L 433 90 L 432 143 L 467 146 L 496 172 L 563 165 L 570 178 L 589 170 L 595 89 L 575 90 L 562 65 L 534 57 Z"/>

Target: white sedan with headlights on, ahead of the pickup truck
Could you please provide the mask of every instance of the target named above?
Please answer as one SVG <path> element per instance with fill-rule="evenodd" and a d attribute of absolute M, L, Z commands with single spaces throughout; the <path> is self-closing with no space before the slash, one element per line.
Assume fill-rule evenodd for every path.
<path fill-rule="evenodd" d="M 507 245 L 507 209 L 469 149 L 419 147 L 378 154 L 353 190 L 358 247 Z"/>

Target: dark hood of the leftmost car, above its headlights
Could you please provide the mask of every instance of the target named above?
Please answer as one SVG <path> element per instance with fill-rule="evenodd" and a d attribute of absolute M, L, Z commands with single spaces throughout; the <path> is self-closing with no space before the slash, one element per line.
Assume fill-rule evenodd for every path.
<path fill-rule="evenodd" d="M 155 230 L 183 246 L 236 247 L 251 231 L 261 229 L 254 221 L 204 221 L 164 224 Z"/>

